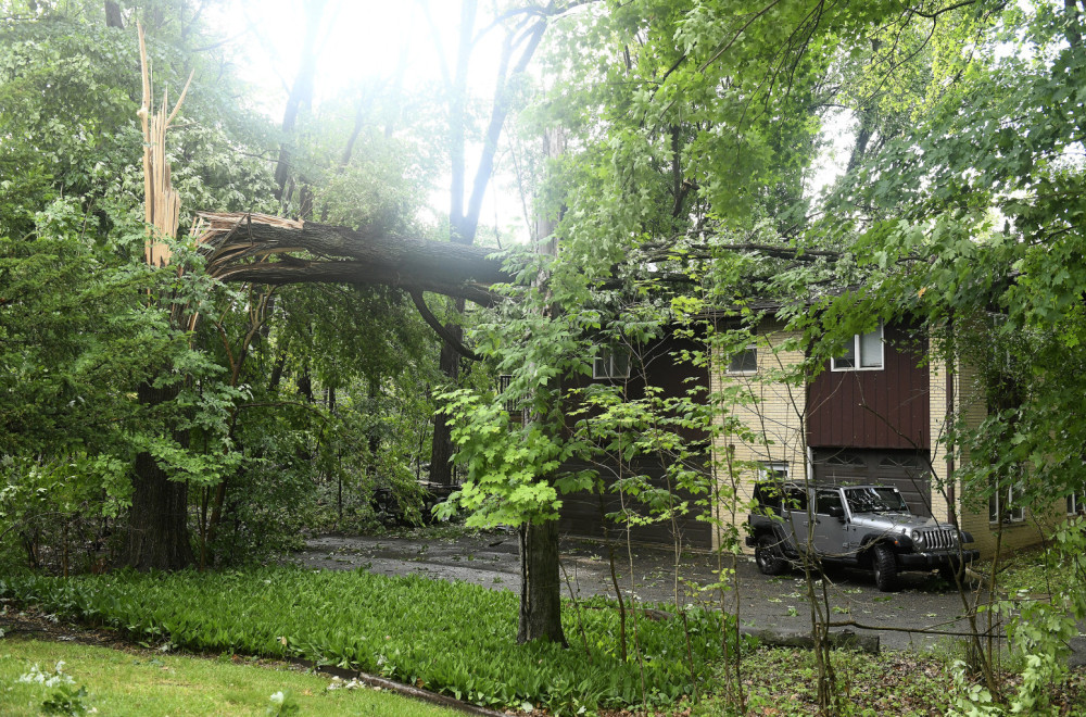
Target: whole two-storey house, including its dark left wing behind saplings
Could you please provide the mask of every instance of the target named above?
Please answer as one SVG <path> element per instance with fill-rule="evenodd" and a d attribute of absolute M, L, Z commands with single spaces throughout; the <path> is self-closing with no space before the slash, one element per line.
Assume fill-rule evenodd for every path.
<path fill-rule="evenodd" d="M 729 319 L 721 315 L 719 320 Z M 922 326 L 908 322 L 880 325 L 854 336 L 812 380 L 800 385 L 775 380 L 774 374 L 783 374 L 806 358 L 801 348 L 792 348 L 801 347 L 798 338 L 770 314 L 745 350 L 716 355 L 710 368 L 697 369 L 674 355 L 704 347 L 690 338 L 668 336 L 640 352 L 636 360 L 597 357 L 593 377 L 581 379 L 579 385 L 621 381 L 629 398 L 639 398 L 649 385 L 672 395 L 692 385 L 714 392 L 742 388 L 752 402 L 731 407 L 730 415 L 758 438 L 743 440 L 721 433 L 714 439 L 711 462 L 694 466 L 711 479 L 720 494 L 738 498 L 716 505 L 714 517 L 722 524 L 745 523 L 743 506 L 753 498 L 754 483 L 778 476 L 895 486 L 915 514 L 945 523 L 957 517 L 962 529 L 974 536 L 982 555 L 994 552 L 998 532 L 1005 550 L 1040 542 L 1038 521 L 1033 518 L 1051 516 L 1032 516 L 1014 505 L 1013 491 L 978 504 L 963 495 L 961 485 L 954 479 L 956 468 L 969 454 L 963 446 L 948 444 L 946 429 L 959 416 L 968 425 L 978 425 L 986 415 L 987 401 L 970 367 L 926 361 L 934 354 L 929 351 L 931 339 Z M 724 418 L 717 416 L 720 426 Z M 665 486 L 666 466 L 660 461 L 635 461 L 626 469 L 642 471 L 655 485 Z M 679 500 L 692 501 L 694 496 L 680 494 Z M 599 537 L 604 513 L 620 507 L 636 511 L 635 503 L 620 505 L 619 496 L 611 492 L 602 496 L 573 494 L 564 501 L 560 527 L 571 534 Z M 1061 503 L 1053 511 L 1076 513 L 1084 502 L 1082 496 L 1070 496 L 1065 506 Z M 671 544 L 675 529 L 686 545 L 719 544 L 714 526 L 693 515 L 635 527 L 631 537 L 640 542 Z"/>

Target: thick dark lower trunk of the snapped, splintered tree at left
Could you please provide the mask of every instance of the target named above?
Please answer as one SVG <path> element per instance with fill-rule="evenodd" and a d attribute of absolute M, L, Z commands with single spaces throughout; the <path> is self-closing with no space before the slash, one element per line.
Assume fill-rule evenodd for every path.
<path fill-rule="evenodd" d="M 176 391 L 143 383 L 137 395 L 140 403 L 156 406 L 173 399 Z M 175 436 L 182 445 L 187 443 L 185 438 Z M 123 564 L 137 570 L 179 570 L 192 565 L 188 483 L 171 480 L 147 452 L 136 456 L 134 473 Z"/>

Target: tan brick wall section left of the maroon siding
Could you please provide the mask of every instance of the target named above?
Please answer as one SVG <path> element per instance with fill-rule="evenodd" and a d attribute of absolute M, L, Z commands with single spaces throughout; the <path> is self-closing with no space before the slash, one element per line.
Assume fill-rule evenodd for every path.
<path fill-rule="evenodd" d="M 735 525 L 741 525 L 746 521 L 746 505 L 753 496 L 758 464 L 786 463 L 790 475 L 799 480 L 807 470 L 803 424 L 807 391 L 801 385 L 783 380 L 804 360 L 803 351 L 782 349 L 785 341 L 795 338 L 798 336 L 782 330 L 780 324 L 767 323 L 759 327 L 757 337 L 757 374 L 729 375 L 725 372 L 728 360 L 720 355 L 709 372 L 714 393 L 737 388 L 747 397 L 745 405 L 732 405 L 730 410 L 725 407 L 719 412 L 716 418 L 718 425 L 723 424 L 724 415 L 730 413 L 757 437 L 755 440 L 743 440 L 735 433 L 721 433 L 714 441 L 717 487 L 724 496 L 717 506 L 717 518 L 723 524 L 734 520 Z M 734 501 L 727 498 L 732 493 L 733 481 Z M 714 545 L 718 545 L 716 538 Z"/>

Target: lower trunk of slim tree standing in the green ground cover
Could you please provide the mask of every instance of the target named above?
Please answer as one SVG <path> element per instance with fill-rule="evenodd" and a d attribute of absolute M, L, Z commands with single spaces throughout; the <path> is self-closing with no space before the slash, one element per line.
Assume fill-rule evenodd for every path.
<path fill-rule="evenodd" d="M 525 524 L 520 536 L 520 626 L 517 642 L 550 640 L 568 647 L 561 629 L 558 521 Z"/>

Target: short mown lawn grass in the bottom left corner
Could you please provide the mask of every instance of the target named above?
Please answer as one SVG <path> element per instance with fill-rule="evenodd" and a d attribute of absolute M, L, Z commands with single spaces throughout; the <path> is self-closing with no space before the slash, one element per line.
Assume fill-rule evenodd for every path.
<path fill-rule="evenodd" d="M 0 714 L 21 717 L 42 714 L 42 704 L 58 688 L 20 682 L 34 665 L 47 674 L 58 661 L 74 684 L 86 690 L 78 705 L 100 715 L 267 715 L 276 714 L 270 695 L 285 692 L 286 708 L 295 714 L 387 715 L 404 717 L 456 713 L 388 692 L 336 689 L 327 678 L 291 669 L 238 664 L 231 659 L 129 653 L 66 642 L 0 640 Z M 273 710 L 269 713 L 269 708 Z"/>

